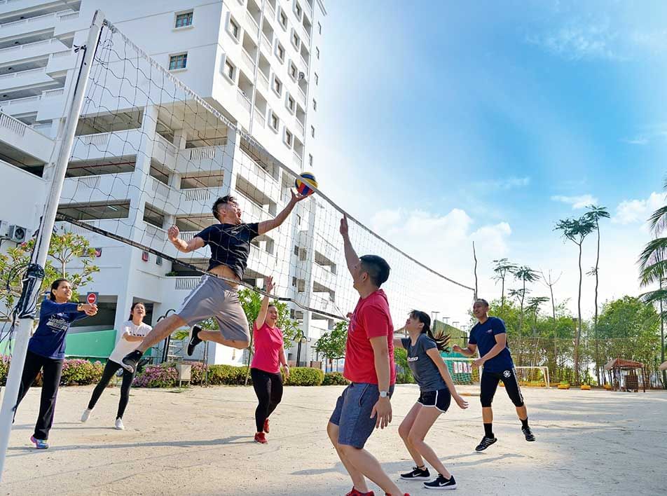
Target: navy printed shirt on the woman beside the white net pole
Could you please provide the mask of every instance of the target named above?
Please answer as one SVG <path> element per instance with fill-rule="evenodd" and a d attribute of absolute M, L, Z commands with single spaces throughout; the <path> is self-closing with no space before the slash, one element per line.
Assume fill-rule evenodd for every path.
<path fill-rule="evenodd" d="M 63 359 L 69 325 L 75 320 L 88 317 L 85 312 L 77 312 L 76 305 L 44 300 L 39 310 L 37 330 L 28 341 L 28 350 L 41 357 Z"/>

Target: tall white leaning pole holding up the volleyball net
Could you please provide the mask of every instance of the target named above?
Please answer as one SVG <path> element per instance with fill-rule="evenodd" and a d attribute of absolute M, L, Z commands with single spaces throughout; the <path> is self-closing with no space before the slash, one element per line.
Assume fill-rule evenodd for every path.
<path fill-rule="evenodd" d="M 16 400 L 18 398 L 20 381 L 28 348 L 28 340 L 30 338 L 30 331 L 35 317 L 34 308 L 36 306 L 37 298 L 41 293 L 41 283 L 44 277 L 43 267 L 46 264 L 48 246 L 51 241 L 51 233 L 53 233 L 53 226 L 55 224 L 55 214 L 58 209 L 65 172 L 67 172 L 67 163 L 69 162 L 69 156 L 74 144 L 74 132 L 76 132 L 78 116 L 81 113 L 81 107 L 83 106 L 85 87 L 86 83 L 88 83 L 92 58 L 97 49 L 99 35 L 102 32 L 103 20 L 104 14 L 102 14 L 101 11 L 96 11 L 92 18 L 90 32 L 88 32 L 88 41 L 86 41 L 85 46 L 82 47 L 81 50 L 81 52 L 83 52 L 83 57 L 81 57 L 81 69 L 78 73 L 78 78 L 74 81 L 74 97 L 72 97 L 71 106 L 67 113 L 67 120 L 65 120 L 64 123 L 60 152 L 53 170 L 53 179 L 51 180 L 46 205 L 44 205 L 42 223 L 36 237 L 35 249 L 32 253 L 32 259 L 27 270 L 27 275 L 23 280 L 23 291 L 21 296 L 22 305 L 20 305 L 20 308 L 18 309 L 19 315 L 18 324 L 16 326 L 14 352 L 11 367 L 9 368 L 7 376 L 5 394 L 0 408 L 0 478 L 4 469 L 9 436 L 11 435 L 12 420 L 16 411 Z"/>

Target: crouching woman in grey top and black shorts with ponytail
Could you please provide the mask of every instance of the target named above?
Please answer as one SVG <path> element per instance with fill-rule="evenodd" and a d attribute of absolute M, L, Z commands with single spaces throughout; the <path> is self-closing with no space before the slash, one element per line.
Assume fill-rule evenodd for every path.
<path fill-rule="evenodd" d="M 426 460 L 438 476 L 424 485 L 429 489 L 455 489 L 454 477 L 424 442 L 436 419 L 449 408 L 452 398 L 460 408 L 468 408 L 467 402 L 456 392 L 449 369 L 440 356 L 440 351 L 447 350 L 449 336 L 434 336 L 431 318 L 418 310 L 410 312 L 404 329 L 410 337 L 394 339 L 394 347 L 403 347 L 408 351 L 408 366 L 419 385 L 420 396 L 399 427 L 399 435 L 415 460 L 413 470 L 401 474 L 401 478 L 429 480 L 431 474 L 424 464 Z"/>

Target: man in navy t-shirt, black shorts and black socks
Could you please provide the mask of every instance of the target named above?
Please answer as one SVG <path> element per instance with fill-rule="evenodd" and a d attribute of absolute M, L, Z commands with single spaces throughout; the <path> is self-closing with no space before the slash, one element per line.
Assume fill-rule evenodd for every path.
<path fill-rule="evenodd" d="M 523 404 L 521 389 L 516 380 L 514 361 L 512 361 L 507 346 L 507 331 L 505 324 L 497 317 L 488 316 L 488 301 L 477 299 L 472 305 L 472 312 L 479 322 L 470 331 L 468 347 L 454 345 L 453 350 L 465 357 L 472 357 L 479 348 L 479 358 L 473 362 L 475 367 L 484 367 L 480 379 L 480 399 L 482 404 L 482 421 L 484 422 L 484 437 L 475 448 L 477 451 L 486 450 L 497 439 L 493 434 L 493 411 L 491 402 L 493 395 L 502 380 L 509 399 L 516 406 L 516 413 L 521 420 L 521 431 L 526 441 L 535 441 L 535 436 L 528 427 L 528 412 Z"/>

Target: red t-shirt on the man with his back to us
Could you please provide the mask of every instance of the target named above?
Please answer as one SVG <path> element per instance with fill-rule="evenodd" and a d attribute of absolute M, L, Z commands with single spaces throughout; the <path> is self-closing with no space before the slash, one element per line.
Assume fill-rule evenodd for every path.
<path fill-rule="evenodd" d="M 394 324 L 389 312 L 387 295 L 378 289 L 366 298 L 359 298 L 357 308 L 348 326 L 348 342 L 345 343 L 345 368 L 343 376 L 353 383 L 378 383 L 375 358 L 370 338 L 387 336 L 389 348 L 390 384 L 396 383 L 394 367 Z"/>

